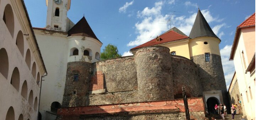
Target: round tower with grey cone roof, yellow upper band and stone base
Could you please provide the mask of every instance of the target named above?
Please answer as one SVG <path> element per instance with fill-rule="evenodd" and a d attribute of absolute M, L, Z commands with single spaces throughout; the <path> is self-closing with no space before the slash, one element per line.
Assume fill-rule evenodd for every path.
<path fill-rule="evenodd" d="M 196 20 L 189 37 L 190 57 L 199 65 L 200 82 L 207 107 L 208 102 L 226 104 L 226 83 L 220 58 L 220 39 L 214 34 L 201 11 L 198 9 Z"/>

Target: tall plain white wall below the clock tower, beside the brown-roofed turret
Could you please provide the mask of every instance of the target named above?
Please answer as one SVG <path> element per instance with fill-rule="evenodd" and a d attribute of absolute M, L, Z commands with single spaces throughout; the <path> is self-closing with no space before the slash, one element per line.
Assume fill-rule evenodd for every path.
<path fill-rule="evenodd" d="M 62 104 L 67 69 L 68 40 L 66 32 L 34 29 L 48 75 L 43 78 L 39 112 L 42 120 L 52 102 Z"/>

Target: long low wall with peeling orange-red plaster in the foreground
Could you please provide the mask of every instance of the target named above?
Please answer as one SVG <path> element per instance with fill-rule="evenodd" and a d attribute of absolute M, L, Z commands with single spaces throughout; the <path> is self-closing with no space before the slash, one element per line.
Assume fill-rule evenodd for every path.
<path fill-rule="evenodd" d="M 204 119 L 203 98 L 188 98 L 191 117 Z M 139 118 L 157 117 L 168 119 L 184 119 L 185 108 L 182 99 L 137 102 L 124 104 L 109 104 L 99 106 L 84 106 L 58 109 L 58 119 L 82 118 L 88 120 L 123 119 L 137 120 Z M 179 115 L 180 114 L 180 115 Z M 129 118 L 129 119 L 128 119 Z"/>

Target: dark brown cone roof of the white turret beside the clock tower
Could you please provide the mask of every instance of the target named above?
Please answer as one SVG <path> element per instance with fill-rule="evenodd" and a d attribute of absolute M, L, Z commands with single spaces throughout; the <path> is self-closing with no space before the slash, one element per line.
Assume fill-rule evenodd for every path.
<path fill-rule="evenodd" d="M 98 38 L 92 31 L 90 25 L 86 21 L 85 17 L 82 17 L 82 19 L 80 19 L 78 21 L 78 23 L 76 23 L 73 26 L 73 28 L 71 28 L 68 31 L 68 36 L 86 36 L 86 37 L 91 37 L 91 38 L 95 38 L 96 40 L 98 40 Z M 100 41 L 100 40 L 98 40 L 98 41 Z"/>

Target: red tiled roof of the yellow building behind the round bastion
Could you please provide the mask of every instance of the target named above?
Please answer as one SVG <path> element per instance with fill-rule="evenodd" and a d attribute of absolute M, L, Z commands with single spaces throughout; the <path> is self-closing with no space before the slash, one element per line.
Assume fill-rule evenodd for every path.
<path fill-rule="evenodd" d="M 177 32 L 172 31 L 172 30 L 160 35 L 159 37 L 161 38 L 161 40 L 158 42 L 156 42 L 156 38 L 155 38 L 151 41 L 148 41 L 148 42 L 146 42 L 140 46 L 134 47 L 132 49 L 138 49 L 138 48 L 142 48 L 142 47 L 146 47 L 146 46 L 154 46 L 156 44 L 161 44 L 161 43 L 166 43 L 166 42 L 171 42 L 171 41 L 188 38 L 188 36 L 183 36 L 183 35 L 178 34 Z"/>

